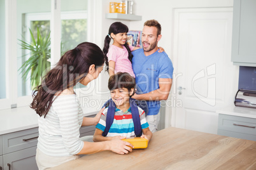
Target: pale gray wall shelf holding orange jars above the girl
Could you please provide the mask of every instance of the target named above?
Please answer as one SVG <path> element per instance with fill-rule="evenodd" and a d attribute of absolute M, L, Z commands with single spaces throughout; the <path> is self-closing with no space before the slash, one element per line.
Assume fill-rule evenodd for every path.
<path fill-rule="evenodd" d="M 106 13 L 106 18 L 113 20 L 140 21 L 142 16 L 124 13 Z"/>

